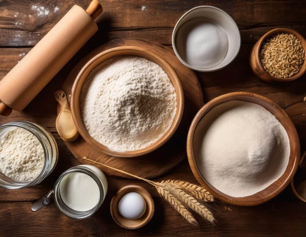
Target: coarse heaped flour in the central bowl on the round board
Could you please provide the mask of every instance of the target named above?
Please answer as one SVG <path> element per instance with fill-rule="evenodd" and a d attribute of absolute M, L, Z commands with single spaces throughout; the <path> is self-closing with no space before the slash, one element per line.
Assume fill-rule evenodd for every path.
<path fill-rule="evenodd" d="M 177 103 L 174 87 L 159 65 L 137 56 L 116 56 L 88 76 L 80 106 L 92 138 L 113 150 L 132 151 L 166 133 Z"/>

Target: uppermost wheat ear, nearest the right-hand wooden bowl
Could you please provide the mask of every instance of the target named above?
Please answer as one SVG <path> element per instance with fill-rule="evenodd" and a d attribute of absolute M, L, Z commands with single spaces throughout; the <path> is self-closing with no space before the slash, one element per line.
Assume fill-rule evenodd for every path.
<path fill-rule="evenodd" d="M 197 199 L 203 200 L 204 202 L 213 202 L 214 196 L 210 194 L 206 189 L 199 185 L 191 184 L 180 180 L 163 180 L 160 183 L 167 183 L 170 185 L 175 185 L 188 192 L 191 196 Z"/>

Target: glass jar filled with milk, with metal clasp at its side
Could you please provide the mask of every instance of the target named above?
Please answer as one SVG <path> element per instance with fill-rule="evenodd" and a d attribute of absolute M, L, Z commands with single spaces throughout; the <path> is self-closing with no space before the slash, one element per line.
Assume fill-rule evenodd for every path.
<path fill-rule="evenodd" d="M 93 165 L 79 165 L 62 173 L 46 197 L 36 201 L 31 210 L 37 211 L 50 203 L 65 216 L 85 219 L 102 205 L 107 192 L 107 180 L 103 172 Z"/>

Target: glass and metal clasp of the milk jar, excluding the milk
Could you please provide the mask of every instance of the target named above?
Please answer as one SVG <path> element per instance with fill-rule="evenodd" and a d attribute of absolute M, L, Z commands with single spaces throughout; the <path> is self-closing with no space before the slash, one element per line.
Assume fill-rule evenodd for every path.
<path fill-rule="evenodd" d="M 99 188 L 99 199 L 98 202 L 89 210 L 85 211 L 77 211 L 73 210 L 69 206 L 66 205 L 66 203 L 62 199 L 61 194 L 61 184 L 62 181 L 65 178 L 70 178 L 69 175 L 73 173 L 82 173 L 88 175 L 90 178 L 92 178 L 95 183 L 98 185 Z M 73 181 L 72 181 L 73 183 Z M 76 183 L 73 183 L 76 185 Z M 71 188 L 71 187 L 70 187 Z M 75 188 L 78 188 L 75 186 Z M 55 182 L 53 190 L 51 190 L 45 197 L 41 197 L 39 200 L 37 200 L 33 205 L 31 210 L 32 211 L 38 211 L 43 206 L 47 206 L 50 201 L 54 198 L 54 202 L 58 210 L 60 210 L 65 216 L 73 218 L 73 219 L 85 219 L 90 216 L 92 216 L 102 205 L 106 193 L 107 193 L 107 180 L 105 175 L 102 171 L 100 171 L 97 167 L 92 165 L 79 165 L 76 167 L 72 167 L 68 170 L 66 170 L 64 173 L 62 173 L 58 180 Z M 82 191 L 82 190 L 81 190 Z M 71 198 L 71 197 L 70 197 Z M 72 197 L 73 198 L 73 197 Z M 87 201 L 87 200 L 84 200 Z"/>

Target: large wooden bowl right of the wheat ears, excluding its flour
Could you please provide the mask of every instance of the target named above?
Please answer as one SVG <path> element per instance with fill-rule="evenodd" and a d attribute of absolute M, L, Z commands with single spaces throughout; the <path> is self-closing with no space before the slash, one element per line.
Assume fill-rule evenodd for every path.
<path fill-rule="evenodd" d="M 198 125 L 198 123 L 202 120 L 202 118 L 207 114 L 212 108 L 218 106 L 224 102 L 228 102 L 231 100 L 241 100 L 246 102 L 252 102 L 263 106 L 266 110 L 272 113 L 276 119 L 282 124 L 285 128 L 290 142 L 290 156 L 289 156 L 289 163 L 284 172 L 284 174 L 266 189 L 257 192 L 251 196 L 246 197 L 232 197 L 226 195 L 219 190 L 215 189 L 210 183 L 208 183 L 203 176 L 201 175 L 200 171 L 197 168 L 194 154 L 193 154 L 193 135 L 194 131 Z M 292 121 L 290 120 L 289 116 L 279 107 L 276 103 L 272 100 L 263 97 L 261 95 L 257 95 L 254 93 L 249 92 L 233 92 L 225 95 L 221 95 L 206 105 L 204 105 L 199 112 L 194 117 L 191 126 L 188 131 L 187 136 L 187 156 L 190 167 L 196 179 L 200 182 L 200 184 L 206 188 L 213 196 L 217 199 L 222 200 L 226 203 L 230 203 L 232 205 L 238 206 L 254 206 L 259 205 L 261 203 L 267 202 L 268 200 L 277 196 L 280 192 L 282 192 L 286 186 L 289 184 L 293 175 L 297 171 L 297 167 L 300 160 L 300 141 L 297 135 L 297 130 L 294 127 Z"/>

